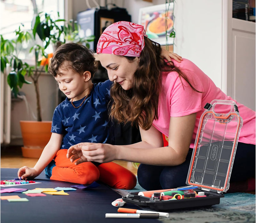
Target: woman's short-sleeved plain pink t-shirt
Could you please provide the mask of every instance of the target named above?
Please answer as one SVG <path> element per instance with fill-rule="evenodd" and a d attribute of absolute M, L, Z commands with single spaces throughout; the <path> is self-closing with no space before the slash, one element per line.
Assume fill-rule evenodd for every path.
<path fill-rule="evenodd" d="M 190 148 L 194 147 L 198 124 L 206 103 L 212 100 L 233 100 L 223 93 L 213 81 L 204 74 L 194 63 L 184 59 L 181 63 L 173 60 L 176 67 L 187 76 L 194 91 L 185 79 L 179 77 L 177 72 L 162 73 L 162 91 L 158 105 L 158 119 L 153 126 L 169 137 L 170 117 L 180 117 L 196 112 L 196 125 L 192 136 Z M 182 80 L 182 82 L 181 82 Z M 182 85 L 183 84 L 183 85 Z M 233 100 L 236 102 L 236 100 Z M 243 118 L 243 127 L 240 131 L 239 142 L 255 145 L 255 111 L 236 102 L 240 116 Z"/>

